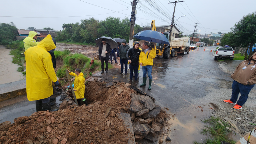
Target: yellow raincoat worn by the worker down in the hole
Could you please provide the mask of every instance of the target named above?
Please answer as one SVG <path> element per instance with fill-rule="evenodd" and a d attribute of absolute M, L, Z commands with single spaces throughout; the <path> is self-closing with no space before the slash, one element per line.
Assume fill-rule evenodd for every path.
<path fill-rule="evenodd" d="M 75 81 L 74 81 L 74 89 L 77 90 L 77 91 L 74 91 L 75 92 L 75 97 L 76 98 L 84 98 L 84 77 L 83 77 L 83 73 L 81 72 L 79 74 L 79 76 L 77 76 L 77 74 L 71 72 L 69 73 L 70 75 L 73 75 L 75 76 Z"/>

